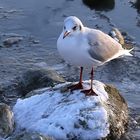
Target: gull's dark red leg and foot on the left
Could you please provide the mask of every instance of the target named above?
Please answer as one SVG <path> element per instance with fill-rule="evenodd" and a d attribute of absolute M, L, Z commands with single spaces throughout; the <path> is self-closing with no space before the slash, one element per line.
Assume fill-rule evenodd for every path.
<path fill-rule="evenodd" d="M 82 75 L 83 75 L 83 67 L 80 68 L 80 79 L 79 79 L 79 83 L 77 83 L 75 85 L 69 86 L 68 89 L 70 89 L 71 91 L 77 90 L 77 89 L 83 89 Z"/>

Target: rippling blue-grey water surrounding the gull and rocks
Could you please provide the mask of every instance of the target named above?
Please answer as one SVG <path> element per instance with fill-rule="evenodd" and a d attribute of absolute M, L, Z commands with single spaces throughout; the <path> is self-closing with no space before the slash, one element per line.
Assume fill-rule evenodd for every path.
<path fill-rule="evenodd" d="M 140 116 L 140 12 L 139 1 L 107 0 L 107 5 L 91 5 L 92 0 L 0 0 L 0 84 L 10 83 L 29 68 L 52 67 L 67 80 L 75 81 L 79 69 L 66 64 L 56 50 L 63 20 L 79 17 L 84 25 L 108 33 L 119 28 L 128 42 L 134 44 L 133 57 L 114 60 L 96 69 L 95 79 L 115 85 L 128 102 L 134 120 Z M 4 46 L 9 37 L 22 40 Z M 89 79 L 85 70 L 84 79 Z M 133 120 L 132 120 L 133 122 Z M 133 124 L 133 123 L 132 123 Z M 140 129 L 132 128 L 132 138 Z"/>

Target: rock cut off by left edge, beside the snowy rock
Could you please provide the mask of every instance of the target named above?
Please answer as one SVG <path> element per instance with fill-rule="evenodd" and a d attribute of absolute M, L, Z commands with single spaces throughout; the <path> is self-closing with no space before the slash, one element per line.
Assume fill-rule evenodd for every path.
<path fill-rule="evenodd" d="M 11 134 L 13 130 L 13 113 L 8 105 L 0 103 L 0 137 Z"/>

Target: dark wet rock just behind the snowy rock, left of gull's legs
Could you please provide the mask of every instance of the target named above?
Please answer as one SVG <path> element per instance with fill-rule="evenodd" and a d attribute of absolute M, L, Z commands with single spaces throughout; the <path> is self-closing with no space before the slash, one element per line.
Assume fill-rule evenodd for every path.
<path fill-rule="evenodd" d="M 18 91 L 25 96 L 32 90 L 54 86 L 65 80 L 54 70 L 48 68 L 30 69 L 18 79 Z"/>

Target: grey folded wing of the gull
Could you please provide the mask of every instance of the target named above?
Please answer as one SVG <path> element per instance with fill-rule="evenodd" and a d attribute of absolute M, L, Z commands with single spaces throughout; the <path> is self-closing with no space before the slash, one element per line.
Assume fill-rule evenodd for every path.
<path fill-rule="evenodd" d="M 101 62 L 107 61 L 122 49 L 121 44 L 99 30 L 92 30 L 87 39 L 90 56 Z"/>

